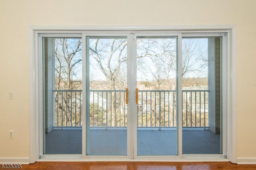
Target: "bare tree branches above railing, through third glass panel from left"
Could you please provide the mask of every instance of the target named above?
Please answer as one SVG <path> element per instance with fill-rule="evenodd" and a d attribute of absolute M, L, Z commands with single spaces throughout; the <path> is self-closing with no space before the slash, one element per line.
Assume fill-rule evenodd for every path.
<path fill-rule="evenodd" d="M 155 88 L 170 85 L 176 70 L 176 42 L 174 39 L 138 39 L 137 70 L 144 78 L 153 78 Z M 152 81 L 152 80 L 151 80 Z M 166 88 L 166 87 L 164 87 Z"/>

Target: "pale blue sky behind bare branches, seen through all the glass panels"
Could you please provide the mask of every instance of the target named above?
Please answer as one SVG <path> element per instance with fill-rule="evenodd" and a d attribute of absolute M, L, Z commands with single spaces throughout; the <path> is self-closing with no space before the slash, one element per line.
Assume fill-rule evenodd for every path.
<path fill-rule="evenodd" d="M 117 40 L 124 40 L 117 38 Z M 191 40 L 193 41 L 191 43 Z M 95 48 L 96 39 L 92 38 L 89 41 L 90 47 Z M 137 39 L 137 56 L 144 56 L 142 58 L 137 58 L 137 80 L 138 81 L 152 81 L 158 78 L 175 78 L 176 77 L 176 37 L 164 37 L 164 38 L 138 38 Z M 74 39 L 68 41 L 70 48 L 74 48 Z M 72 44 L 73 43 L 73 44 Z M 97 49 L 101 50 L 99 54 L 102 58 L 102 65 L 107 68 L 108 56 L 110 54 L 110 45 L 112 39 L 100 39 Z M 117 46 L 116 43 L 114 46 Z M 190 62 L 195 63 L 194 67 L 199 67 L 202 64 L 202 61 L 196 61 L 198 57 L 198 49 L 200 53 L 208 59 L 208 38 L 185 38 L 182 39 L 182 55 L 186 51 L 186 47 L 190 46 L 190 49 L 193 49 L 192 52 L 188 53 L 190 56 Z M 196 51 L 196 52 L 195 52 Z M 114 70 L 117 64 L 117 58 L 120 53 L 120 50 L 117 50 L 111 59 L 111 69 Z M 169 57 L 168 57 L 169 55 Z M 172 55 L 172 59 L 170 59 Z M 106 57 L 104 57 L 106 56 Z M 124 48 L 121 54 L 122 58 L 127 57 L 127 46 Z M 82 58 L 82 51 L 76 54 L 77 59 Z M 193 62 L 196 61 L 196 62 Z M 172 69 L 170 69 L 172 65 Z M 82 62 L 76 64 L 74 69 L 76 76 L 73 77 L 74 80 L 82 79 Z M 127 74 L 127 62 L 121 64 L 122 77 L 125 77 Z M 168 71 L 166 71 L 168 70 Z M 184 77 L 205 77 L 208 74 L 208 67 L 205 66 L 198 75 L 198 72 L 190 72 L 184 75 Z M 106 80 L 106 77 L 100 70 L 96 60 L 90 55 L 90 74 L 94 80 Z M 158 75 L 159 74 L 159 75 Z"/>

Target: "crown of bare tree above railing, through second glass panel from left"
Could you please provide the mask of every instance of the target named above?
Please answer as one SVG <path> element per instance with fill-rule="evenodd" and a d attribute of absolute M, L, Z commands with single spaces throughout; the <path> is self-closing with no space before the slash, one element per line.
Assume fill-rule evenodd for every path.
<path fill-rule="evenodd" d="M 111 90 L 123 87 L 122 63 L 127 61 L 127 39 L 92 39 L 90 42 L 90 56 L 98 65 L 110 85 Z M 123 71 L 123 70 L 122 70 Z"/>

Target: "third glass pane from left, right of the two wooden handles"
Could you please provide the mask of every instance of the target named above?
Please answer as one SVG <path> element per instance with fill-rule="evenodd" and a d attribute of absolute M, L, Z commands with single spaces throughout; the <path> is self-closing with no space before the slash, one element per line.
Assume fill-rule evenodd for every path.
<path fill-rule="evenodd" d="M 137 38 L 137 154 L 177 155 L 177 37 Z"/>

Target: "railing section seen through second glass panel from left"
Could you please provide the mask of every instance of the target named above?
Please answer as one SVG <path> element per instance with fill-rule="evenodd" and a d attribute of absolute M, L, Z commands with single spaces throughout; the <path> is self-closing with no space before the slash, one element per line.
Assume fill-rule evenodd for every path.
<path fill-rule="evenodd" d="M 125 90 L 90 90 L 89 111 L 91 127 L 126 127 Z"/>

